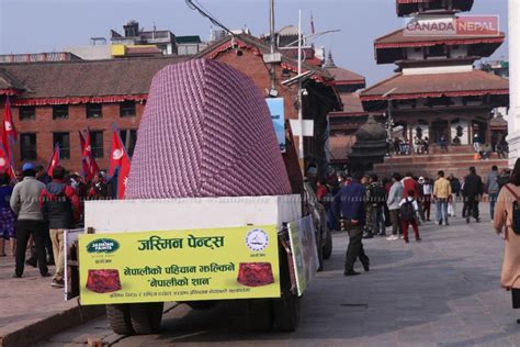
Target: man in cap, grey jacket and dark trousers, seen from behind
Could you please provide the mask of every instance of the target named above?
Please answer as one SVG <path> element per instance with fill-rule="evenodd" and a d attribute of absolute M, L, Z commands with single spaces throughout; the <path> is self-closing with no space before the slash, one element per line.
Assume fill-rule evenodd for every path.
<path fill-rule="evenodd" d="M 39 195 L 45 184 L 36 179 L 36 168 L 31 163 L 25 163 L 22 167 L 23 180 L 14 186 L 10 204 L 13 212 L 18 215 L 16 231 L 16 267 L 14 278 L 23 275 L 25 250 L 27 240 L 33 236 L 36 247 L 39 275 L 42 277 L 50 276 L 47 268 L 45 250 L 45 228 L 42 210 L 39 209 Z"/>

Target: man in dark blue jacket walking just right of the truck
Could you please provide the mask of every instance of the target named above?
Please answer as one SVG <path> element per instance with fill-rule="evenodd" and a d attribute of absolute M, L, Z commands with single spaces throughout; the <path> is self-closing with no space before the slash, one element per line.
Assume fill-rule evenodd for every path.
<path fill-rule="evenodd" d="M 366 222 L 365 215 L 365 188 L 361 184 L 361 174 L 354 174 L 353 181 L 344 186 L 335 197 L 332 209 L 338 219 L 343 220 L 343 225 L 349 233 L 349 247 L 344 261 L 344 276 L 360 275 L 354 271 L 358 257 L 365 271 L 369 271 L 370 260 L 363 249 L 362 236 Z"/>

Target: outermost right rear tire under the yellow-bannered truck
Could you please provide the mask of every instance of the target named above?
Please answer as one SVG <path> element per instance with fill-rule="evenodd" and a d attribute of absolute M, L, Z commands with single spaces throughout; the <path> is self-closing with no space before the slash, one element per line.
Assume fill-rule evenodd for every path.
<path fill-rule="evenodd" d="M 299 324 L 299 298 L 290 292 L 272 301 L 274 328 L 279 332 L 294 332 Z"/>

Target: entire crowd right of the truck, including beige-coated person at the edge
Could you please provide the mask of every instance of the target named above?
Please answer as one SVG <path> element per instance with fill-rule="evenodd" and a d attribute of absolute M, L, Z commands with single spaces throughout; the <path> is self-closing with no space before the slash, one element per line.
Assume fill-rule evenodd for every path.
<path fill-rule="evenodd" d="M 415 177 L 408 172 L 403 177 L 394 174 L 392 180 L 380 180 L 376 175 L 353 174 L 339 177 L 337 187 L 320 184 L 320 198 L 325 199 L 332 188 L 329 227 L 348 232 L 349 245 L 344 261 L 344 276 L 357 276 L 354 264 L 359 259 L 363 269 L 370 271 L 370 258 L 363 247 L 363 238 L 386 236 L 387 240 L 403 239 L 409 243 L 411 226 L 416 242 L 421 242 L 419 226 L 430 221 L 431 204 L 436 204 L 436 223 L 450 225 L 462 203 L 462 216 L 466 223 L 481 222 L 479 202 L 486 194 L 490 220 L 497 234 L 504 235 L 506 250 L 501 270 L 501 284 L 511 292 L 512 307 L 520 309 L 520 159 L 515 169 L 491 167 L 486 180 L 477 175 L 475 167 L 462 180 L 453 175 L 438 171 L 437 179 Z M 336 184 L 335 184 L 336 186 Z M 335 191 L 336 190 L 336 191 Z M 339 226 L 335 225 L 336 221 Z M 520 324 L 520 320 L 517 321 Z"/>

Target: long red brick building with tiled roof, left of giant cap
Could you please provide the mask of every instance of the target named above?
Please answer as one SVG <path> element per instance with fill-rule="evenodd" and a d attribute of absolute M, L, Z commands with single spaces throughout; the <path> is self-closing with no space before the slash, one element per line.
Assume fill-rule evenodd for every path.
<path fill-rule="evenodd" d="M 22 161 L 47 165 L 59 143 L 61 163 L 80 170 L 78 131 L 90 128 L 92 150 L 106 168 L 112 124 L 132 153 L 154 75 L 183 57 L 0 65 L 0 107 L 10 97 L 19 132 L 13 148 Z"/>

